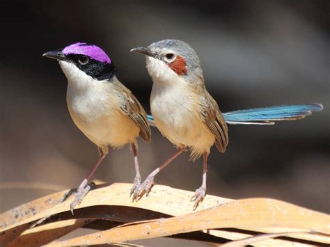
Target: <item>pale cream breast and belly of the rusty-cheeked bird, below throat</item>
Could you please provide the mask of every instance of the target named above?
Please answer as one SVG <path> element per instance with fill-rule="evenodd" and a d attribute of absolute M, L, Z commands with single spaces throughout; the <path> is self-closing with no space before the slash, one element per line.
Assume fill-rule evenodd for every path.
<path fill-rule="evenodd" d="M 193 157 L 210 152 L 214 135 L 201 120 L 199 106 L 191 101 L 190 95 L 182 92 L 152 95 L 150 107 L 157 128 L 171 143 L 191 148 Z"/>

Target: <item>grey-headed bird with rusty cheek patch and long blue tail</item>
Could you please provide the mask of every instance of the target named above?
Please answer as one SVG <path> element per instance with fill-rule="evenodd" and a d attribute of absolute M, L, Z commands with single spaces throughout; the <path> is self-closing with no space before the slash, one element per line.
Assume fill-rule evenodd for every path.
<path fill-rule="evenodd" d="M 212 145 L 225 152 L 228 145 L 229 124 L 272 125 L 277 120 L 296 120 L 321 111 L 321 104 L 273 106 L 221 113 L 217 102 L 207 92 L 201 63 L 194 51 L 181 40 L 161 40 L 149 47 L 131 51 L 146 55 L 146 67 L 152 77 L 150 108 L 155 125 L 178 150 L 154 170 L 136 188 L 133 200 L 150 192 L 154 177 L 184 150 L 191 151 L 191 159 L 203 154 L 203 182 L 191 198 L 194 209 L 205 197 L 207 157 Z"/>

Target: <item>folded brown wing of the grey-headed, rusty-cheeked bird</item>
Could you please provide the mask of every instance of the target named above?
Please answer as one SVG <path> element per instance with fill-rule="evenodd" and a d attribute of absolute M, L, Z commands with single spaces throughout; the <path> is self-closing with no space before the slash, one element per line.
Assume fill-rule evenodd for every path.
<path fill-rule="evenodd" d="M 228 127 L 223 118 L 217 102 L 205 90 L 205 96 L 201 99 L 201 118 L 209 127 L 215 137 L 215 145 L 220 152 L 226 151 L 228 145 Z"/>

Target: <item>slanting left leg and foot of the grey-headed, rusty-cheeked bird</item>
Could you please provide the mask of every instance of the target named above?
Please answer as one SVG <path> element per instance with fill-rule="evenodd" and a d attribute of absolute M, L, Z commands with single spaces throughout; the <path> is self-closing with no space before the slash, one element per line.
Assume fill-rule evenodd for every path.
<path fill-rule="evenodd" d="M 162 165 L 160 165 L 157 169 L 152 171 L 144 180 L 144 182 L 134 191 L 133 193 L 133 201 L 137 200 L 138 197 L 142 197 L 144 193 L 146 193 L 146 196 L 149 196 L 149 192 L 151 190 L 152 185 L 154 184 L 154 177 L 159 173 L 161 170 L 163 170 L 168 164 L 173 161 L 176 157 L 178 157 L 182 152 L 184 151 L 184 148 L 178 148 L 178 150 L 171 156 L 169 157 Z"/>

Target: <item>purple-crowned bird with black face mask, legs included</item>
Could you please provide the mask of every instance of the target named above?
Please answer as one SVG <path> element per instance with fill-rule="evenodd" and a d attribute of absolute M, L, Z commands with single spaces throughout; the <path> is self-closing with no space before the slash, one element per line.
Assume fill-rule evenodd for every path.
<path fill-rule="evenodd" d="M 100 158 L 81 182 L 74 207 L 91 189 L 88 182 L 111 148 L 130 144 L 134 154 L 136 177 L 131 193 L 141 184 L 136 138 L 150 142 L 147 114 L 138 99 L 116 77 L 116 67 L 107 54 L 95 45 L 78 42 L 64 49 L 43 54 L 54 58 L 68 78 L 67 103 L 75 125 L 91 140 Z"/>

